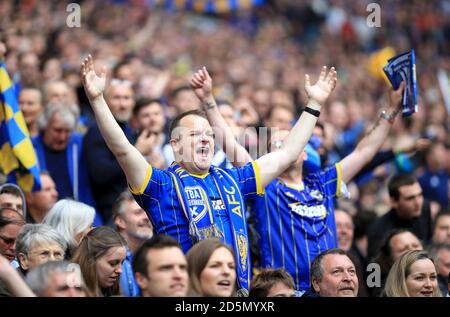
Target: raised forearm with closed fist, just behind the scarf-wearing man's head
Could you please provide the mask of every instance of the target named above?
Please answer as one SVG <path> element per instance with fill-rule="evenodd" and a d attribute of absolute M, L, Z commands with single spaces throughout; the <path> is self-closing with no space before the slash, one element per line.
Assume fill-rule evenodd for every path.
<path fill-rule="evenodd" d="M 191 79 L 191 88 L 200 99 L 208 116 L 208 121 L 214 129 L 216 140 L 222 146 L 227 159 L 234 166 L 243 166 L 252 161 L 247 150 L 236 140 L 233 131 L 220 114 L 212 94 L 212 80 L 206 67 L 198 70 Z"/>

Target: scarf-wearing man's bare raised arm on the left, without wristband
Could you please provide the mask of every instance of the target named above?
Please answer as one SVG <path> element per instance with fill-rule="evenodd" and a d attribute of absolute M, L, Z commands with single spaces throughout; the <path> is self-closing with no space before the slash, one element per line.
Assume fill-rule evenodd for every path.
<path fill-rule="evenodd" d="M 89 55 L 81 65 L 81 79 L 84 90 L 95 113 L 95 119 L 108 148 L 116 157 L 128 183 L 138 190 L 145 181 L 149 164 L 139 151 L 128 142 L 119 124 L 106 104 L 103 92 L 106 85 L 106 72 L 100 76 L 95 73 L 94 60 Z"/>

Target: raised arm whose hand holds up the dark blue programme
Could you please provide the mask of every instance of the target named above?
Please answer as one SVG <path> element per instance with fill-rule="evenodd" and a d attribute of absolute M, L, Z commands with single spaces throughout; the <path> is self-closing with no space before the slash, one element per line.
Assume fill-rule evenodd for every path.
<path fill-rule="evenodd" d="M 355 150 L 344 157 L 341 162 L 342 181 L 350 181 L 366 164 L 368 164 L 389 134 L 395 117 L 401 109 L 401 100 L 405 83 L 402 82 L 397 90 L 389 91 L 389 108 L 380 116 L 372 129 L 358 143 Z M 391 119 L 389 119 L 391 118 Z"/>

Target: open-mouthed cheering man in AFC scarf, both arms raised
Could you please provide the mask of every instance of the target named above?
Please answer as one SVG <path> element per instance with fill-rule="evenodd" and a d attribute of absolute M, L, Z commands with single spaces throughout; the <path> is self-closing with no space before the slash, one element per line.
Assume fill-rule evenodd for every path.
<path fill-rule="evenodd" d="M 173 236 L 184 252 L 195 242 L 210 237 L 229 244 L 236 257 L 238 291 L 246 294 L 250 284 L 246 200 L 262 195 L 263 188 L 300 156 L 321 104 L 336 84 L 334 70 L 326 75 L 324 69 L 314 86 L 307 83 L 311 91 L 310 112 L 300 117 L 279 151 L 240 168 L 223 170 L 211 166 L 213 130 L 206 115 L 193 110 L 180 114 L 171 124 L 170 144 L 175 162 L 165 171 L 152 168 L 114 120 L 103 98 L 105 70 L 98 76 L 89 55 L 81 72 L 100 132 L 124 170 L 136 201 L 147 211 L 156 234 Z"/>

